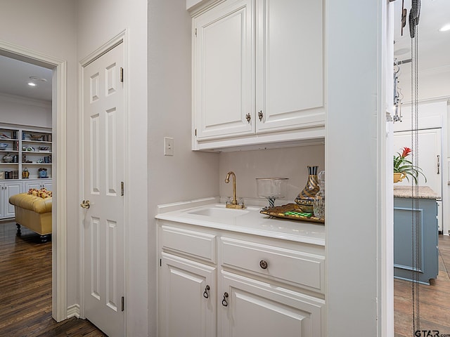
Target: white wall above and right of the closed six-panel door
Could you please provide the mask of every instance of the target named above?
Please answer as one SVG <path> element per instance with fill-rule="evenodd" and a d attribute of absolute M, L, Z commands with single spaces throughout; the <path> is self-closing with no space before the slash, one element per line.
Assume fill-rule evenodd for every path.
<path fill-rule="evenodd" d="M 77 60 L 127 29 L 124 80 L 129 88 L 127 153 L 127 336 L 148 336 L 147 1 L 80 0 Z"/>

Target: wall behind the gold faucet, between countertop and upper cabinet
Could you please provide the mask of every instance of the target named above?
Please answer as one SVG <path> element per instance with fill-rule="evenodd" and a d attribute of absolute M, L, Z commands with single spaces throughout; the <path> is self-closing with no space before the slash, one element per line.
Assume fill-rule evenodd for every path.
<path fill-rule="evenodd" d="M 284 149 L 223 152 L 219 154 L 219 193 L 221 197 L 231 197 L 233 187 L 226 184 L 226 173 L 236 173 L 236 194 L 251 204 L 257 199 L 255 178 L 289 178 L 288 191 L 284 199 L 276 204 L 294 202 L 297 194 L 308 180 L 307 166 L 319 166 L 319 172 L 325 169 L 325 146 L 309 145 L 287 147 Z M 263 199 L 262 199 L 263 200 Z"/>

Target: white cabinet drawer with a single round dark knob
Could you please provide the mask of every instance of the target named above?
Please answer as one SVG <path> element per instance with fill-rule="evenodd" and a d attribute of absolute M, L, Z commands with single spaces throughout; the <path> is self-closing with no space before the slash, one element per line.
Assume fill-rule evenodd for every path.
<path fill-rule="evenodd" d="M 221 237 L 221 253 L 222 265 L 325 291 L 324 256 L 227 237 Z"/>

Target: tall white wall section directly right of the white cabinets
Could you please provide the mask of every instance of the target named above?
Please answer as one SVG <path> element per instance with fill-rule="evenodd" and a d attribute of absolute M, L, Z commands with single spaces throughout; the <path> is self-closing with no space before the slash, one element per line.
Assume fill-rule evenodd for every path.
<path fill-rule="evenodd" d="M 386 206 L 380 204 L 386 186 L 381 178 L 386 126 L 380 81 L 381 8 L 386 4 L 327 1 L 328 336 L 380 336 L 385 318 L 379 316 L 385 299 L 379 292 L 379 253 L 380 215 Z"/>

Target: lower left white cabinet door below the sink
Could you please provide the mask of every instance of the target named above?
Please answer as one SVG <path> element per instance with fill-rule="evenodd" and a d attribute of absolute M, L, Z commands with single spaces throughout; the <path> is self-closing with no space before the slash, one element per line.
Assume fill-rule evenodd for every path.
<path fill-rule="evenodd" d="M 216 268 L 162 253 L 160 336 L 216 336 Z"/>

